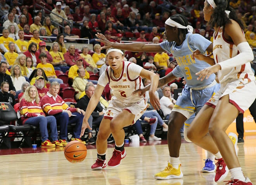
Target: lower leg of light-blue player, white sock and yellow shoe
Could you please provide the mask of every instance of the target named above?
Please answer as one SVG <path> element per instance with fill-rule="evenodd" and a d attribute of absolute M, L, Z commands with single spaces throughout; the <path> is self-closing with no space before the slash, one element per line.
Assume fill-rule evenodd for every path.
<path fill-rule="evenodd" d="M 172 111 L 170 115 L 170 120 L 168 123 L 167 141 L 170 154 L 170 161 L 168 161 L 168 166 L 159 173 L 155 174 L 156 179 L 171 179 L 171 178 L 182 178 L 183 173 L 180 170 L 180 128 L 183 123 L 187 120 L 180 112 Z"/>

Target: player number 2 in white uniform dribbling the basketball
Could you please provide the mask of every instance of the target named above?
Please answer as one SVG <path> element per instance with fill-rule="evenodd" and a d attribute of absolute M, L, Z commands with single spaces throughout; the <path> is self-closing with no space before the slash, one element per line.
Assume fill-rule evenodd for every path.
<path fill-rule="evenodd" d="M 142 78 L 147 78 L 152 84 L 149 90 L 150 99 L 155 100 L 154 92 L 159 80 L 159 76 L 155 73 L 129 61 L 123 61 L 124 54 L 119 49 L 109 49 L 107 59 L 109 66 L 105 73 L 100 75 L 95 92 L 86 109 L 81 129 L 81 136 L 83 136 L 86 128 L 91 129 L 88 119 L 99 102 L 104 87 L 109 83 L 113 96 L 100 123 L 96 140 L 97 160 L 92 165 L 92 170 L 101 170 L 107 165 L 116 167 L 120 164 L 121 159 L 125 158 L 125 131 L 123 127 L 135 123 L 147 109 L 145 97 L 132 96 L 131 93 L 143 88 Z M 155 103 L 160 107 L 158 102 Z M 115 139 L 115 149 L 112 158 L 106 164 L 107 138 L 111 133 Z"/>

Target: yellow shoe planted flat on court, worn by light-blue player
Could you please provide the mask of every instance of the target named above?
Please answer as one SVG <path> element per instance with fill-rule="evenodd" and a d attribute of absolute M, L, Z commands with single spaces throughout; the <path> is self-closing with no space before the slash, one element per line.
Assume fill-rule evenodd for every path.
<path fill-rule="evenodd" d="M 155 174 L 155 178 L 156 179 L 171 179 L 171 178 L 182 178 L 183 177 L 183 173 L 180 170 L 180 166 L 178 167 L 178 169 L 174 168 L 168 161 L 168 166 L 165 167 L 165 169 L 163 171 L 160 171 L 159 173 Z"/>

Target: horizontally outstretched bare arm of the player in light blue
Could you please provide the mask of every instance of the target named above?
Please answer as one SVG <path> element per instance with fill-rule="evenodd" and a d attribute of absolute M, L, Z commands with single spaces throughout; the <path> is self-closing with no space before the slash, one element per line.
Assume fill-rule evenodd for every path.
<path fill-rule="evenodd" d="M 133 51 L 133 52 L 150 52 L 150 53 L 164 52 L 164 50 L 161 48 L 159 44 L 144 44 L 139 42 L 117 43 L 117 42 L 110 42 L 101 33 L 97 33 L 96 36 L 98 37 L 96 41 L 99 41 L 105 44 L 105 46 L 103 46 L 101 49 L 116 48 L 116 49 L 125 49 L 127 51 Z"/>

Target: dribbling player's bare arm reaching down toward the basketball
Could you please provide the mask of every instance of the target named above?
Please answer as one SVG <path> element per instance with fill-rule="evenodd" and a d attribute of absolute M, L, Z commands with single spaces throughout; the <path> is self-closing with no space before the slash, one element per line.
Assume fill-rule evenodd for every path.
<path fill-rule="evenodd" d="M 90 115 L 92 114 L 93 110 L 96 108 L 96 106 L 100 100 L 100 96 L 102 95 L 103 90 L 104 90 L 104 87 L 97 84 L 97 87 L 96 87 L 92 97 L 90 98 L 89 104 L 85 111 L 85 116 L 83 117 L 83 124 L 82 124 L 82 128 L 81 128 L 80 137 L 83 136 L 86 128 L 92 130 L 92 128 L 89 126 L 88 119 L 89 119 Z"/>

